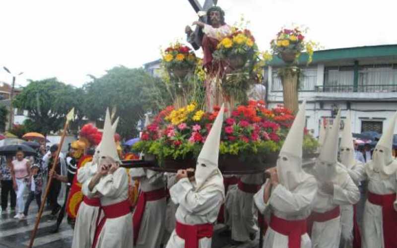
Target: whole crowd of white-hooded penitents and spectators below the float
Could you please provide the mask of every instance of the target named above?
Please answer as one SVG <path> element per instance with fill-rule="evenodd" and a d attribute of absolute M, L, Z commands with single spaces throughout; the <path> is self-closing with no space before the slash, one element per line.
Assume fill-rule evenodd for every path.
<path fill-rule="evenodd" d="M 101 140 L 87 146 L 80 133 L 70 152 L 60 154 L 54 172 L 57 145 L 47 152 L 41 149 L 36 159 L 17 151 L 14 160 L 2 160 L 2 211 L 10 195 L 15 218 L 26 218 L 34 199 L 40 205 L 50 176 L 54 180 L 48 204 L 53 218 L 58 214 L 55 231 L 67 212 L 74 229 L 73 248 L 210 248 L 215 223 L 228 227 L 225 234 L 234 244 L 253 240 L 262 226 L 264 248 L 397 247 L 397 162 L 392 155 L 397 113 L 373 152 L 366 154 L 371 160 L 365 163 L 357 156 L 348 115 L 339 144 L 339 113 L 314 166 L 305 167 L 304 103 L 276 166 L 265 173 L 267 179 L 264 174 L 222 175 L 218 169 L 222 119 L 223 107 L 195 169 L 163 173 L 120 167 L 125 156 L 115 138 L 117 121 L 112 125 L 107 111 Z M 82 164 L 87 156 L 90 161 Z M 137 200 L 131 196 L 134 181 L 139 182 Z M 359 228 L 356 204 L 363 182 L 368 194 Z M 58 203 L 62 185 L 66 185 L 63 206 Z M 76 192 L 83 195 L 77 202 Z"/>

